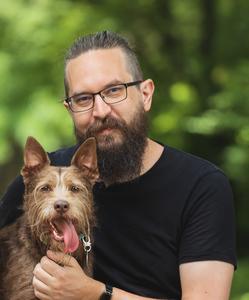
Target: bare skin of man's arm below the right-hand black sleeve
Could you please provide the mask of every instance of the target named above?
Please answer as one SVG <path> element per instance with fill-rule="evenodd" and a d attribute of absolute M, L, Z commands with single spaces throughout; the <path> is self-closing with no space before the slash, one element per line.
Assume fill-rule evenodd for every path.
<path fill-rule="evenodd" d="M 228 300 L 234 266 L 222 261 L 180 265 L 182 300 Z"/>

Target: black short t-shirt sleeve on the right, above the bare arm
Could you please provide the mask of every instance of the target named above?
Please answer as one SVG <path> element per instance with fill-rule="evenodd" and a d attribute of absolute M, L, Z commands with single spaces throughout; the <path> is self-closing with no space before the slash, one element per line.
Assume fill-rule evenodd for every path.
<path fill-rule="evenodd" d="M 236 268 L 233 194 L 220 171 L 199 179 L 182 217 L 179 264 L 204 260 L 224 261 Z"/>

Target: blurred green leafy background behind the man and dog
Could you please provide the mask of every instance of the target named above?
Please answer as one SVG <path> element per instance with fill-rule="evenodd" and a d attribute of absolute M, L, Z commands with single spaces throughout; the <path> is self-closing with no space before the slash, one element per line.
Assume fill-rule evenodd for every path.
<path fill-rule="evenodd" d="M 206 158 L 230 178 L 237 215 L 233 300 L 249 299 L 249 1 L 0 1 L 0 196 L 28 135 L 74 143 L 60 102 L 63 59 L 79 35 L 113 30 L 154 79 L 151 137 Z"/>

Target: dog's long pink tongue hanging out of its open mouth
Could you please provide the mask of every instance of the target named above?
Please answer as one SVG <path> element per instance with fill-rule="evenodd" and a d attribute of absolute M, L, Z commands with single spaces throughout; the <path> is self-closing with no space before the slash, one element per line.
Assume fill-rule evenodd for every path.
<path fill-rule="evenodd" d="M 71 221 L 63 221 L 61 225 L 61 230 L 63 232 L 65 244 L 64 252 L 72 253 L 76 251 L 79 247 L 79 238 L 77 232 Z"/>

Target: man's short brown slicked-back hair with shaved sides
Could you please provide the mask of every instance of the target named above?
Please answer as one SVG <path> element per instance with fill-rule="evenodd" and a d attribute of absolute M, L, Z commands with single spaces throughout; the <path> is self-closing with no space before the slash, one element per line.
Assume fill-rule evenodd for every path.
<path fill-rule="evenodd" d="M 143 79 L 143 73 L 138 62 L 137 55 L 134 49 L 132 49 L 132 47 L 130 46 L 128 40 L 115 32 L 105 30 L 77 38 L 72 46 L 68 49 L 65 55 L 64 68 L 64 86 L 66 97 L 68 97 L 69 90 L 66 78 L 66 66 L 68 62 L 71 59 L 74 59 L 89 50 L 112 48 L 120 48 L 121 50 L 123 50 L 127 59 L 128 71 L 132 75 L 133 79 Z"/>

